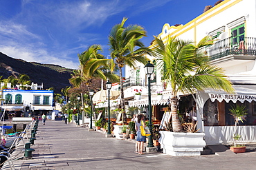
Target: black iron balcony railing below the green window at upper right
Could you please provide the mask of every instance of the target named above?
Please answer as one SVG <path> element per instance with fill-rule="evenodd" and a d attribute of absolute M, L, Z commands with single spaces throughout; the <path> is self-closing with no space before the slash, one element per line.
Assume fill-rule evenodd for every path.
<path fill-rule="evenodd" d="M 256 38 L 230 37 L 203 47 L 201 50 L 205 55 L 210 56 L 211 61 L 228 55 L 256 56 Z"/>

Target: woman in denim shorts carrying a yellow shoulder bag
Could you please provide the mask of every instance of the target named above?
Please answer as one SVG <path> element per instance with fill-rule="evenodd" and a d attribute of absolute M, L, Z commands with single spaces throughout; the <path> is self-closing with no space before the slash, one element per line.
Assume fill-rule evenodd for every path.
<path fill-rule="evenodd" d="M 142 120 L 144 120 L 144 115 L 139 114 L 138 120 L 135 123 L 135 129 L 137 131 L 137 146 L 138 146 L 138 154 L 139 155 L 143 154 L 143 145 L 144 145 L 144 142 L 146 142 L 146 137 L 142 136 L 141 131 L 140 131 L 140 126 L 145 127 L 145 123 L 143 123 Z"/>

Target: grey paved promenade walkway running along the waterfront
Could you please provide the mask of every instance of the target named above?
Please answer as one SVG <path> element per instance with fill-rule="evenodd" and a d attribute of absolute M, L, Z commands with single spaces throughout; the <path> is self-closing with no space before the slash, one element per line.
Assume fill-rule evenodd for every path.
<path fill-rule="evenodd" d="M 33 159 L 15 160 L 15 169 L 256 169 L 255 151 L 228 157 L 138 155 L 134 153 L 134 142 L 105 138 L 98 131 L 62 121 L 47 120 L 46 125 L 39 122 L 38 130 L 35 145 L 31 146 L 35 149 Z"/>

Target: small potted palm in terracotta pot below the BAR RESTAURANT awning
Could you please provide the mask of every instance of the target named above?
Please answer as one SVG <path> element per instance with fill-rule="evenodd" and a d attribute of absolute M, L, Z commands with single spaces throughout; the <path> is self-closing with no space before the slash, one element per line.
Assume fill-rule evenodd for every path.
<path fill-rule="evenodd" d="M 242 153 L 246 151 L 246 147 L 244 145 L 237 145 L 237 141 L 241 138 L 241 135 L 238 134 L 237 131 L 237 125 L 239 124 L 239 120 L 244 123 L 243 120 L 246 120 L 244 118 L 244 116 L 246 115 L 246 106 L 245 105 L 238 105 L 236 104 L 234 107 L 231 107 L 231 109 L 229 109 L 230 111 L 230 115 L 232 115 L 234 117 L 235 120 L 235 133 L 234 133 L 234 143 L 233 145 L 230 147 L 230 150 L 235 152 L 235 153 Z"/>

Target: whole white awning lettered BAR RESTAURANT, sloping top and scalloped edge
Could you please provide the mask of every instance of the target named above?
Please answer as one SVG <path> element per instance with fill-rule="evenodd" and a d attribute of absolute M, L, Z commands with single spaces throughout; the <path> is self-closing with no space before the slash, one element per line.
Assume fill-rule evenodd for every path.
<path fill-rule="evenodd" d="M 226 103 L 229 103 L 230 100 L 233 103 L 237 103 L 240 101 L 244 103 L 244 101 L 248 101 L 251 103 L 253 100 L 256 101 L 256 85 L 233 85 L 235 89 L 235 94 L 227 94 L 223 91 L 212 91 L 205 90 L 205 93 L 208 93 L 208 96 L 212 102 L 218 100 L 220 103 L 225 100 Z"/>

